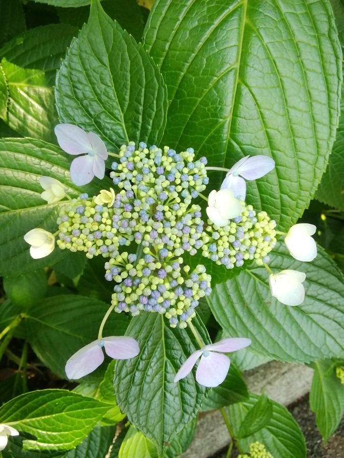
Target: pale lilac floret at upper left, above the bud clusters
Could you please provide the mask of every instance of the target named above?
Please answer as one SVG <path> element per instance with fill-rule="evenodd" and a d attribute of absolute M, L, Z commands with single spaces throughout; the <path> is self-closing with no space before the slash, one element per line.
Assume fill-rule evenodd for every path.
<path fill-rule="evenodd" d="M 55 134 L 63 151 L 79 156 L 73 159 L 70 166 L 70 177 L 76 186 L 90 183 L 94 177 L 100 180 L 104 178 L 104 161 L 108 158 L 108 152 L 98 135 L 85 132 L 73 124 L 58 124 Z"/>

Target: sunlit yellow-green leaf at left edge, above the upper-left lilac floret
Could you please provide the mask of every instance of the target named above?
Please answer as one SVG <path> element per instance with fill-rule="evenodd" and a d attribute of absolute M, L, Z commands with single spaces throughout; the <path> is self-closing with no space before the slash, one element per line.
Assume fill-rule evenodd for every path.
<path fill-rule="evenodd" d="M 54 92 L 44 72 L 23 69 L 5 58 L 1 61 L 9 98 L 3 120 L 20 135 L 55 141 L 54 127 L 58 124 Z"/>

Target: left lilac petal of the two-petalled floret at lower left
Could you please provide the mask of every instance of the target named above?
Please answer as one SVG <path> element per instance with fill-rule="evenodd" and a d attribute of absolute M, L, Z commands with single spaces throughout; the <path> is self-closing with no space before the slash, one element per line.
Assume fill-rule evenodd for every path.
<path fill-rule="evenodd" d="M 65 367 L 68 379 L 77 380 L 91 374 L 104 361 L 104 353 L 99 346 L 101 339 L 94 340 L 71 356 Z"/>

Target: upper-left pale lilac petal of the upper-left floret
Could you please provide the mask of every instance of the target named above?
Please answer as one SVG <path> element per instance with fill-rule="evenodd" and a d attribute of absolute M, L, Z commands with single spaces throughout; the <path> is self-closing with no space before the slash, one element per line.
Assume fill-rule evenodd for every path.
<path fill-rule="evenodd" d="M 87 132 L 74 124 L 58 124 L 55 135 L 60 147 L 68 154 L 83 154 L 92 150 Z"/>

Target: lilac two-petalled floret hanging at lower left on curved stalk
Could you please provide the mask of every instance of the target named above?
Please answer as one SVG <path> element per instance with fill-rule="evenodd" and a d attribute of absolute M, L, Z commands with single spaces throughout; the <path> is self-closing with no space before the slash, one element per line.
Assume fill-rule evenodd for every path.
<path fill-rule="evenodd" d="M 102 347 L 114 359 L 130 359 L 140 353 L 138 342 L 133 337 L 123 335 L 94 340 L 68 359 L 65 367 L 68 379 L 80 379 L 100 366 L 104 361 Z"/>

